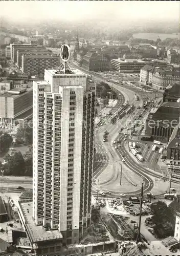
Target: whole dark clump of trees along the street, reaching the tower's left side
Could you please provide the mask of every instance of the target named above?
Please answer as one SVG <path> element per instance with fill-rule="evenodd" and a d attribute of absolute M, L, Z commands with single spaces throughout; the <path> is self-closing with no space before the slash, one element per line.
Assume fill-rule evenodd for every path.
<path fill-rule="evenodd" d="M 32 146 L 28 147 L 24 156 L 18 151 L 11 155 L 7 154 L 4 159 L 6 163 L 2 165 L 2 168 L 5 175 L 32 177 Z"/>

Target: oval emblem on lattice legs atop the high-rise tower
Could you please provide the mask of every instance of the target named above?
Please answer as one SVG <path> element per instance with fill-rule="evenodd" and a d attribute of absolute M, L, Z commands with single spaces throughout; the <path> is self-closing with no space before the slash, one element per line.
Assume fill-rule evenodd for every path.
<path fill-rule="evenodd" d="M 59 66 L 59 73 L 67 73 L 67 70 L 71 70 L 68 65 L 68 60 L 70 59 L 70 47 L 68 45 L 62 45 L 60 48 L 60 58 L 62 60 L 61 65 Z"/>

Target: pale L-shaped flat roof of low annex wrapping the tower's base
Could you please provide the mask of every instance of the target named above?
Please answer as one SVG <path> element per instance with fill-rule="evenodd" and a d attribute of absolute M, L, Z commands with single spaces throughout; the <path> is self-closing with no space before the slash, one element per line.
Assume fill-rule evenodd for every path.
<path fill-rule="evenodd" d="M 19 207 L 26 221 L 26 228 L 31 236 L 32 243 L 59 240 L 62 234 L 58 230 L 48 230 L 43 226 L 37 226 L 33 220 L 33 201 L 31 199 L 18 201 Z"/>

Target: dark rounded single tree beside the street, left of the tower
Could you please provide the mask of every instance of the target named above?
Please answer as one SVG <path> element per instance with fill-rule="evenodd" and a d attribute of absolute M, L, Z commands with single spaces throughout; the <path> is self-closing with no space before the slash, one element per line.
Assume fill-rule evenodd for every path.
<path fill-rule="evenodd" d="M 25 160 L 20 151 L 9 156 L 8 169 L 6 169 L 5 172 L 13 176 L 25 175 Z"/>

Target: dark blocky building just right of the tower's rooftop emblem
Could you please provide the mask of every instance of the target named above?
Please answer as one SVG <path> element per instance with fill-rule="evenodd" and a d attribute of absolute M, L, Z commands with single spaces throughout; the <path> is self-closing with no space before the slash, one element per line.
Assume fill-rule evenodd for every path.
<path fill-rule="evenodd" d="M 82 57 L 82 66 L 89 71 L 108 71 L 110 70 L 110 62 L 103 54 L 86 53 Z"/>

